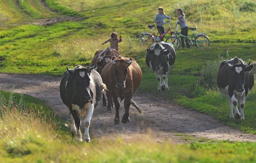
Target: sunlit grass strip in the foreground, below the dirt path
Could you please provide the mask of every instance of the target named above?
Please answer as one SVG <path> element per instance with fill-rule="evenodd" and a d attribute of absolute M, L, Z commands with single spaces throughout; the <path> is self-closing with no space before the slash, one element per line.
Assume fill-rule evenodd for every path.
<path fill-rule="evenodd" d="M 148 137 L 123 141 L 118 137 L 76 142 L 64 122 L 41 100 L 0 92 L 0 159 L 2 163 L 223 163 L 255 162 L 256 144 L 183 136 L 191 144 L 156 143 Z M 104 148 L 102 148 L 104 147 Z M 237 154 L 239 153 L 239 155 Z"/>

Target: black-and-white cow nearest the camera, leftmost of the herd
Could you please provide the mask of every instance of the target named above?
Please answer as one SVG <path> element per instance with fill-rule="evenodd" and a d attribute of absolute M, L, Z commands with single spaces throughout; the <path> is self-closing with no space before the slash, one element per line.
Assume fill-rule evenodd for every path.
<path fill-rule="evenodd" d="M 94 107 L 99 103 L 102 91 L 106 87 L 102 82 L 101 75 L 94 68 L 85 68 L 81 65 L 75 69 L 67 68 L 61 80 L 61 100 L 69 108 L 72 120 L 70 131 L 76 135 L 78 141 L 82 141 L 81 116 L 85 126 L 84 140 L 90 142 L 89 126 Z"/>

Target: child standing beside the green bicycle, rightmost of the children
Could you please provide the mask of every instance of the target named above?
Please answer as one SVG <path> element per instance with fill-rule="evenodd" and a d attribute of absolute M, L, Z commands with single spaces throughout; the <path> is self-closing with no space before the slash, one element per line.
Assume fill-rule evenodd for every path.
<path fill-rule="evenodd" d="M 188 25 L 186 23 L 185 14 L 183 13 L 182 8 L 178 8 L 176 10 L 176 14 L 177 14 L 178 20 L 179 20 L 178 23 L 181 26 L 181 30 L 182 30 L 181 34 L 187 37 L 188 36 L 189 27 L 188 27 Z M 182 47 L 185 48 L 184 38 L 181 38 L 181 41 L 182 41 Z M 190 48 L 188 40 L 185 39 L 185 41 L 186 41 L 187 48 Z"/>

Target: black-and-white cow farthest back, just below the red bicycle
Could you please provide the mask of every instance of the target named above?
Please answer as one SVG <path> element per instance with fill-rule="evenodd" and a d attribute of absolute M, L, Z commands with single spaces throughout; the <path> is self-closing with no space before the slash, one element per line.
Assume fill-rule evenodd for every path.
<path fill-rule="evenodd" d="M 171 44 L 156 43 L 147 49 L 147 66 L 155 72 L 158 80 L 158 91 L 168 88 L 168 75 L 175 63 L 175 50 Z"/>

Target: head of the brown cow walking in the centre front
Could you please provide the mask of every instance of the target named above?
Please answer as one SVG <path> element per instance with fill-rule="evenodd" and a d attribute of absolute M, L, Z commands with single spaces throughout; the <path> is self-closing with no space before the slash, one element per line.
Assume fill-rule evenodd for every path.
<path fill-rule="evenodd" d="M 113 56 L 111 58 L 111 62 L 115 69 L 115 87 L 118 89 L 124 89 L 126 87 L 125 82 L 127 79 L 128 67 L 132 63 L 132 58 L 130 58 L 129 60 L 125 60 L 122 58 L 116 59 L 115 56 Z"/>

